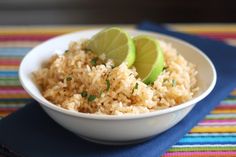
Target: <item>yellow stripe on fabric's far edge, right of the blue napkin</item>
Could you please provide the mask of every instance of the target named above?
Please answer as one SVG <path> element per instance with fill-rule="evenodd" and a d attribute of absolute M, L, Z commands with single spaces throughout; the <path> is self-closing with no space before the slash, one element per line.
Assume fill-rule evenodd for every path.
<path fill-rule="evenodd" d="M 171 29 L 188 33 L 200 32 L 236 32 L 236 24 L 169 24 Z"/>

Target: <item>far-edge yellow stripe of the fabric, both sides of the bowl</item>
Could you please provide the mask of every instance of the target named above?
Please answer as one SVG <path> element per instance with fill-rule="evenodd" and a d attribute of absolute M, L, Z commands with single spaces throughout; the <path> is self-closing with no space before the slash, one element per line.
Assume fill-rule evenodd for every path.
<path fill-rule="evenodd" d="M 134 28 L 135 25 L 69 25 L 69 26 L 7 26 L 0 27 L 0 34 L 62 34 L 103 27 Z M 236 32 L 236 24 L 167 24 L 168 27 L 189 33 Z"/>

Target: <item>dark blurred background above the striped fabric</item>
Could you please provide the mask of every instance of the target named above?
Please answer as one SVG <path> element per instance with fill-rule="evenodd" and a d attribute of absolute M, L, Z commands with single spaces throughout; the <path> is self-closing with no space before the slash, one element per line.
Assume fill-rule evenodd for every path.
<path fill-rule="evenodd" d="M 236 22 L 235 0 L 0 0 L 0 25 Z"/>

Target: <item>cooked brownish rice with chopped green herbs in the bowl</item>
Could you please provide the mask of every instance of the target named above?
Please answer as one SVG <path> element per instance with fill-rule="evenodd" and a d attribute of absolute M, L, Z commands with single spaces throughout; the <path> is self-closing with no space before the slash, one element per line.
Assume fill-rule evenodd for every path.
<path fill-rule="evenodd" d="M 140 114 L 179 105 L 198 90 L 196 66 L 164 41 L 159 43 L 165 70 L 151 85 L 138 78 L 134 67 L 103 63 L 83 43 L 72 42 L 67 52 L 33 73 L 43 96 L 57 106 L 94 114 Z"/>

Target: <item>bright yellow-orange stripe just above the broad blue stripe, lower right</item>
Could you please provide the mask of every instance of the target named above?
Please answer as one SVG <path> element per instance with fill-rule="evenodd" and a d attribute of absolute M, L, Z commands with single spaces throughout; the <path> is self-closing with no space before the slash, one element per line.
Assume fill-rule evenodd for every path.
<path fill-rule="evenodd" d="M 217 133 L 217 132 L 236 132 L 236 126 L 220 126 L 220 127 L 208 127 L 208 126 L 196 126 L 191 131 L 191 133 Z"/>

